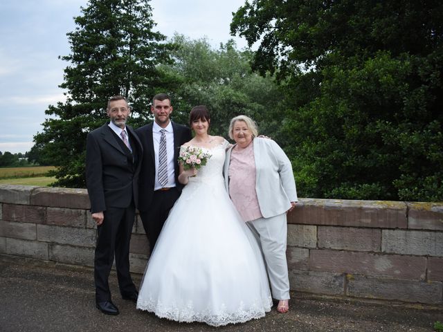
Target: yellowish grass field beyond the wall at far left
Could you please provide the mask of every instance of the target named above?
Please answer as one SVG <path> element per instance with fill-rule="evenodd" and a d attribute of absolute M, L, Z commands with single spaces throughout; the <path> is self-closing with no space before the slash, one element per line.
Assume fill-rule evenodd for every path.
<path fill-rule="evenodd" d="M 39 185 L 46 187 L 55 181 L 55 177 L 46 176 L 54 166 L 6 167 L 0 168 L 1 185 Z"/>

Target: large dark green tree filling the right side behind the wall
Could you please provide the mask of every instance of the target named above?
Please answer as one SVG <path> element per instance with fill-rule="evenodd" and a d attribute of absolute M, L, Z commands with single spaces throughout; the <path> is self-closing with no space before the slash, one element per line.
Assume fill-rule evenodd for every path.
<path fill-rule="evenodd" d="M 443 200 L 443 4 L 254 0 L 231 33 L 287 95 L 304 196 Z"/>

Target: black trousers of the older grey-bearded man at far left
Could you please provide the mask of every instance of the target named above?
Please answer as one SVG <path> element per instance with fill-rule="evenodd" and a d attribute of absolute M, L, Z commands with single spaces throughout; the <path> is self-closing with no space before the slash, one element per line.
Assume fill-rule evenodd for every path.
<path fill-rule="evenodd" d="M 127 208 L 108 208 L 104 214 L 105 219 L 97 228 L 98 237 L 94 256 L 97 302 L 111 300 L 108 279 L 114 256 L 121 295 L 132 295 L 136 292 L 136 286 L 129 273 L 129 241 L 135 218 L 134 204 Z"/>

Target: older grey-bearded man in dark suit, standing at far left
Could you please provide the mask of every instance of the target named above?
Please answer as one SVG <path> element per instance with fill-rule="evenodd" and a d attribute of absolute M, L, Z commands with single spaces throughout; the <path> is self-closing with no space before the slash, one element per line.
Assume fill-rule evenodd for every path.
<path fill-rule="evenodd" d="M 125 124 L 130 113 L 125 98 L 114 96 L 107 106 L 111 121 L 87 136 L 87 188 L 98 232 L 94 255 L 96 306 L 107 315 L 118 315 L 108 284 L 114 255 L 123 299 L 136 302 L 138 295 L 129 274 L 129 241 L 143 147 L 134 130 Z"/>

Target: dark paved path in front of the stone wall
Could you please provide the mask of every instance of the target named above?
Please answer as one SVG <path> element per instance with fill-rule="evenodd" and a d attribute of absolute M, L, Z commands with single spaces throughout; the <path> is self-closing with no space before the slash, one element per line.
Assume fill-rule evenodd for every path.
<path fill-rule="evenodd" d="M 134 276 L 139 284 L 141 275 Z M 94 305 L 91 268 L 62 266 L 0 255 L 0 331 L 296 331 L 397 332 L 434 331 L 443 322 L 443 308 L 365 303 L 292 294 L 291 311 L 275 308 L 266 317 L 215 328 L 177 323 L 137 311 L 118 296 L 116 276 L 110 278 L 120 315 L 103 315 Z"/>

